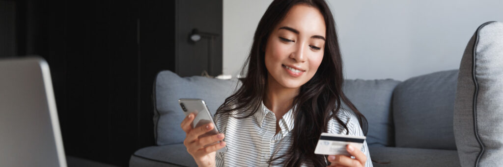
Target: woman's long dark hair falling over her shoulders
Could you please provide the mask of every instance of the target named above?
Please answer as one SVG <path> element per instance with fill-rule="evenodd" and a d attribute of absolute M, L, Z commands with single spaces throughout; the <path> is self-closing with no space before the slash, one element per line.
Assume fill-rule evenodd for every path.
<path fill-rule="evenodd" d="M 300 166 L 303 162 L 311 161 L 315 166 L 326 165 L 322 155 L 314 154 L 316 142 L 322 132 L 327 131 L 327 124 L 331 118 L 344 126 L 347 125 L 337 117 L 342 102 L 355 112 L 364 134 L 367 134 L 367 119 L 356 109 L 342 91 L 344 77 L 341 51 L 337 38 L 335 23 L 327 4 L 323 0 L 276 0 L 271 3 L 262 17 L 255 32 L 253 45 L 245 66 L 241 71 L 242 86 L 218 108 L 215 114 L 231 114 L 249 112 L 246 118 L 257 111 L 266 95 L 268 71 L 265 65 L 265 47 L 273 29 L 295 5 L 303 4 L 317 8 L 323 15 L 326 25 L 326 42 L 323 60 L 316 74 L 300 87 L 299 94 L 293 100 L 295 126 L 292 133 L 292 145 L 286 154 L 270 159 L 286 157 L 282 162 L 286 166 Z M 246 66 L 247 64 L 247 66 Z M 273 156 L 272 156 L 273 157 Z"/>

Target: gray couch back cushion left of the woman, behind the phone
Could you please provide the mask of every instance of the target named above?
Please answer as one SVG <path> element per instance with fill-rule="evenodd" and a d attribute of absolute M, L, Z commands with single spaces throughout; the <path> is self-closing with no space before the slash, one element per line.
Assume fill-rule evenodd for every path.
<path fill-rule="evenodd" d="M 180 123 L 185 115 L 178 104 L 180 98 L 203 99 L 212 114 L 238 84 L 235 80 L 220 80 L 200 76 L 181 78 L 171 71 L 157 74 L 154 85 L 154 135 L 157 145 L 182 143 L 185 132 Z"/>

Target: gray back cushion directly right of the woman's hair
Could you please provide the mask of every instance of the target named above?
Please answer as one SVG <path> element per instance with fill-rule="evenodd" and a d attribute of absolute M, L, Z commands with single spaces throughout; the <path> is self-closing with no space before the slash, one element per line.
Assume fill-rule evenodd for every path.
<path fill-rule="evenodd" d="M 356 108 L 367 118 L 369 146 L 393 146 L 394 130 L 391 115 L 391 95 L 400 81 L 346 80 L 343 91 Z M 344 106 L 349 109 L 347 106 Z"/>

